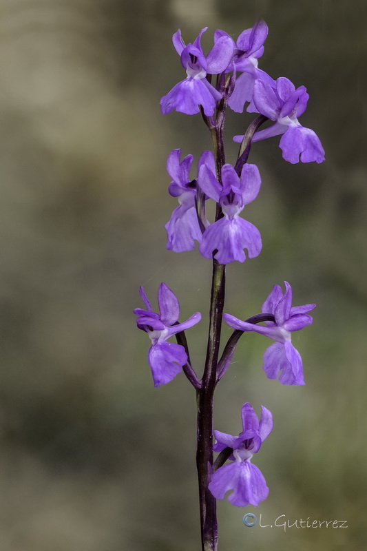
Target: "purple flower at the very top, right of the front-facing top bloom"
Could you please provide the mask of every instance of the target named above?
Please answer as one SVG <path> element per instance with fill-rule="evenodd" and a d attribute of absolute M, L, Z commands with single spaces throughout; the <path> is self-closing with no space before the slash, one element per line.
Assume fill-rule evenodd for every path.
<path fill-rule="evenodd" d="M 253 28 L 241 32 L 237 42 L 233 41 L 233 57 L 226 72 L 242 72 L 235 81 L 235 87 L 228 100 L 231 110 L 242 113 L 244 104 L 248 101 L 247 111 L 257 113 L 258 110 L 253 103 L 253 83 L 256 79 L 263 80 L 269 85 L 275 85 L 275 81 L 258 69 L 258 59 L 264 53 L 264 42 L 268 35 L 268 26 L 262 19 L 253 25 Z M 214 41 L 220 37 L 228 37 L 227 32 L 216 30 Z"/>

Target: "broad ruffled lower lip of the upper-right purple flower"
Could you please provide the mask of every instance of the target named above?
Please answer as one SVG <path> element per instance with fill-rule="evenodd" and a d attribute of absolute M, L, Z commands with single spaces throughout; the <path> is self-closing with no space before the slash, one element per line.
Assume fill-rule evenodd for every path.
<path fill-rule="evenodd" d="M 325 160 L 324 148 L 315 132 L 301 125 L 288 127 L 280 139 L 280 149 L 283 158 L 293 165 L 300 161 L 300 156 L 302 163 L 322 163 Z"/>

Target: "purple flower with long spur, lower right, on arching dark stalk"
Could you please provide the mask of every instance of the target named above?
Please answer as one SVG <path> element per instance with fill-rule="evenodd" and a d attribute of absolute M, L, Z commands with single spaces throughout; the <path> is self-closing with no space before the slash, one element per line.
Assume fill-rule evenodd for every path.
<path fill-rule="evenodd" d="M 265 322 L 266 326 L 253 325 L 238 320 L 233 315 L 224 314 L 224 321 L 233 329 L 240 331 L 255 331 L 277 342 L 271 344 L 264 353 L 264 371 L 269 379 L 277 379 L 282 371 L 279 382 L 282 384 L 304 384 L 302 359 L 300 353 L 291 343 L 291 332 L 300 331 L 313 322 L 307 315 L 315 308 L 315 304 L 292 307 L 291 285 L 284 281 L 286 291 L 283 295 L 279 285 L 274 285 L 268 298 L 262 304 L 262 313 L 271 313 L 275 322 Z"/>

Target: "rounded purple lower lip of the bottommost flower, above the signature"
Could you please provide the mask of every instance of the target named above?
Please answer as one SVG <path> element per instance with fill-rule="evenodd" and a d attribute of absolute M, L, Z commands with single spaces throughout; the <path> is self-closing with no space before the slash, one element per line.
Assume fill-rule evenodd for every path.
<path fill-rule="evenodd" d="M 234 461 L 220 467 L 211 477 L 209 490 L 216 499 L 224 499 L 233 490 L 228 501 L 237 507 L 251 503 L 258 506 L 269 494 L 269 488 L 260 470 L 249 461 Z"/>

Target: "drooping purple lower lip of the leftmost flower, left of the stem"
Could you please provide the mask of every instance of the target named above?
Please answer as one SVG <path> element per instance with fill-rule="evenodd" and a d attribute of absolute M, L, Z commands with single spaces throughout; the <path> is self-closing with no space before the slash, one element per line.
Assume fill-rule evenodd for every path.
<path fill-rule="evenodd" d="M 153 344 L 148 351 L 148 363 L 154 386 L 169 383 L 187 362 L 187 354 L 180 344 L 161 342 Z"/>

